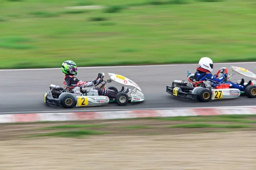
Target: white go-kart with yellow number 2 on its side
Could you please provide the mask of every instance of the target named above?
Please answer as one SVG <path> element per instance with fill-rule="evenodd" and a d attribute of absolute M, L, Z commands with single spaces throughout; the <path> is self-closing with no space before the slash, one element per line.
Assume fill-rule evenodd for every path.
<path fill-rule="evenodd" d="M 142 102 L 145 99 L 140 87 L 135 82 L 119 74 L 108 73 L 108 75 L 110 79 L 103 79 L 105 74 L 99 73 L 98 78 L 101 78 L 102 82 L 94 88 L 66 86 L 65 82 L 63 82 L 64 88 L 58 85 L 50 85 L 50 91 L 44 94 L 44 102 L 56 106 L 62 105 L 64 108 L 73 108 L 74 106 L 103 106 L 108 103 L 116 103 L 123 106 L 127 105 L 128 102 Z M 123 86 L 121 91 L 118 91 L 116 87 L 106 87 L 106 84 L 112 81 L 132 86 L 133 88 L 124 88 Z M 99 96 L 98 93 L 95 93 L 98 88 L 115 91 L 117 95 L 114 99 L 110 99 L 108 96 Z"/>

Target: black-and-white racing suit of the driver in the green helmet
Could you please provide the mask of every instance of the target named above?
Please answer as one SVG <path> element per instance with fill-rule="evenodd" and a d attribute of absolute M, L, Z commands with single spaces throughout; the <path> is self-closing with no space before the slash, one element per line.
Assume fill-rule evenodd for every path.
<path fill-rule="evenodd" d="M 77 79 L 76 77 L 70 76 L 70 75 L 65 76 L 64 80 L 65 80 L 66 86 L 76 86 L 76 87 L 81 87 L 81 88 L 98 85 L 102 81 L 102 79 L 97 78 L 94 81 L 83 82 L 83 81 Z M 102 89 L 102 88 L 90 89 L 87 92 L 88 92 L 87 95 L 108 96 L 109 98 L 115 98 L 115 96 L 117 94 L 114 91 L 110 91 L 110 90 Z"/>

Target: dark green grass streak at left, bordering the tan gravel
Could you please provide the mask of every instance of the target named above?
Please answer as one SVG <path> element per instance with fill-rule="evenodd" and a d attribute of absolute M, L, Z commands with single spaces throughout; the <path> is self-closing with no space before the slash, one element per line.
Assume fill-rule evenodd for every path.
<path fill-rule="evenodd" d="M 105 134 L 105 132 L 98 132 L 93 130 L 74 130 L 74 131 L 40 133 L 40 134 L 30 135 L 29 137 L 42 137 L 42 136 L 82 137 L 82 136 L 88 136 L 88 135 L 102 135 L 102 134 Z"/>

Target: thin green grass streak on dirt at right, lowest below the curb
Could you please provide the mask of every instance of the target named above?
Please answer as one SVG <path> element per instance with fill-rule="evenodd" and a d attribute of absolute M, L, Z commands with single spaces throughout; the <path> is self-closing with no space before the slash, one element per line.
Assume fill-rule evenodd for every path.
<path fill-rule="evenodd" d="M 191 124 L 180 124 L 171 125 L 170 128 L 248 128 L 248 125 L 217 125 L 217 124 L 204 124 L 204 123 L 191 123 Z"/>

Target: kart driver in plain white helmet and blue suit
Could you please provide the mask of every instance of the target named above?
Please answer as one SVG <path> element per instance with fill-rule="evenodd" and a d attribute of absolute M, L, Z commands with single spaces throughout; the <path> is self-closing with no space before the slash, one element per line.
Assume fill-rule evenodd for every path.
<path fill-rule="evenodd" d="M 251 81 L 249 81 L 247 83 L 247 85 L 244 86 L 244 79 L 241 79 L 241 83 L 240 84 L 236 84 L 233 82 L 224 82 L 224 80 L 227 79 L 227 74 L 225 74 L 224 69 L 227 68 L 221 68 L 223 71 L 221 71 L 221 73 L 223 73 L 223 75 L 221 77 L 218 78 L 218 75 L 212 75 L 212 70 L 213 70 L 213 62 L 212 59 L 208 58 L 208 57 L 203 57 L 199 60 L 198 63 L 198 68 L 196 70 L 196 73 L 194 75 L 194 79 L 196 79 L 197 81 L 204 81 L 204 80 L 209 80 L 210 82 L 212 82 L 212 87 L 215 88 L 221 88 L 221 86 L 224 86 L 224 88 L 237 88 L 240 91 L 244 91 L 244 89 L 248 86 L 251 85 Z"/>

